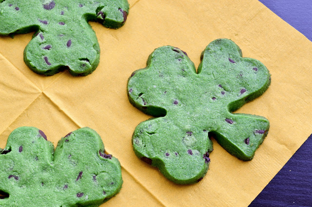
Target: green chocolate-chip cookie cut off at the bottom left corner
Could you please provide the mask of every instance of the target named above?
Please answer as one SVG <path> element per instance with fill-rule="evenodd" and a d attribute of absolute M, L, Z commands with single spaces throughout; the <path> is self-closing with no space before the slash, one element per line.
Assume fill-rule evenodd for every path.
<path fill-rule="evenodd" d="M 42 131 L 20 127 L 0 152 L 0 206 L 98 206 L 121 188 L 119 161 L 88 127 L 61 138 L 55 151 Z"/>

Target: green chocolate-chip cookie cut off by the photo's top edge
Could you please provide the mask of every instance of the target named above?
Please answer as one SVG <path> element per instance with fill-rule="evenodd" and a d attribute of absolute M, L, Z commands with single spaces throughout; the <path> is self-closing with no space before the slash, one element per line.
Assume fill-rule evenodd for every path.
<path fill-rule="evenodd" d="M 0 0 L 0 35 L 35 31 L 24 50 L 30 69 L 85 76 L 98 67 L 100 52 L 88 21 L 119 28 L 128 12 L 127 0 Z"/>

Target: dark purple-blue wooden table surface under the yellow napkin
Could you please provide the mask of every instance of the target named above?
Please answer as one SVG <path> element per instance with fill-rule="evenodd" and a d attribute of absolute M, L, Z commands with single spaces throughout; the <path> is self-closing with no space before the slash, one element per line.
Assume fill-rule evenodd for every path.
<path fill-rule="evenodd" d="M 312 0 L 259 1 L 312 41 Z M 312 135 L 250 205 L 269 206 L 312 207 Z"/>

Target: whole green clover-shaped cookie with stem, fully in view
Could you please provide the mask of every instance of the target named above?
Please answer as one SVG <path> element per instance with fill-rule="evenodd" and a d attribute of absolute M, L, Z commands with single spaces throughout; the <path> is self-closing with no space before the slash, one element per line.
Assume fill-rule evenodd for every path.
<path fill-rule="evenodd" d="M 136 155 L 179 184 L 207 173 L 213 150 L 208 134 L 230 154 L 251 160 L 269 130 L 264 117 L 232 114 L 269 87 L 268 69 L 242 58 L 229 39 L 217 39 L 202 52 L 196 69 L 178 48 L 157 48 L 147 67 L 128 81 L 130 102 L 154 117 L 141 122 L 132 142 Z"/>

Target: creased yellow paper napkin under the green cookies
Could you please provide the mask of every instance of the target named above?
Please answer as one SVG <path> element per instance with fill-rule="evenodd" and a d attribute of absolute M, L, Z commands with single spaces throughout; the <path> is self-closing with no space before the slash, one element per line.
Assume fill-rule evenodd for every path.
<path fill-rule="evenodd" d="M 123 187 L 108 206 L 247 206 L 312 133 L 312 42 L 258 0 L 129 0 L 126 24 L 118 30 L 98 23 L 98 69 L 86 77 L 67 71 L 52 77 L 32 72 L 23 50 L 33 34 L 0 37 L 0 147 L 20 126 L 40 128 L 56 145 L 79 127 L 95 129 L 106 151 L 122 166 Z M 252 161 L 243 162 L 216 142 L 202 181 L 168 181 L 132 150 L 132 133 L 149 116 L 127 98 L 130 74 L 146 66 L 157 47 L 188 53 L 195 66 L 217 38 L 232 39 L 244 57 L 260 60 L 272 85 L 237 112 L 264 116 L 271 128 Z"/>

